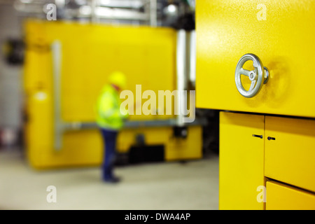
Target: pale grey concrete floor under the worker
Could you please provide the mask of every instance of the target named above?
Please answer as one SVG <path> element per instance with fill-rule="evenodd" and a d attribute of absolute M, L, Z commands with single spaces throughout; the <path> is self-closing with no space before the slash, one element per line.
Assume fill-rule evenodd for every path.
<path fill-rule="evenodd" d="M 116 168 L 117 185 L 99 167 L 37 172 L 19 151 L 0 151 L 0 209 L 218 209 L 218 155 L 202 160 Z M 57 202 L 47 202 L 55 186 Z"/>

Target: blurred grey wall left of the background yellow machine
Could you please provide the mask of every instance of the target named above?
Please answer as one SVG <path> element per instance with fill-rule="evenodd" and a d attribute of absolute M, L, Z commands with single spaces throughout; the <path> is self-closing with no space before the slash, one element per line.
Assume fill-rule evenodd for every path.
<path fill-rule="evenodd" d="M 22 24 L 13 1 L 0 1 L 1 47 L 9 39 L 21 39 Z M 2 52 L 5 49 L 1 49 Z M 22 65 L 8 64 L 1 54 L 0 59 L 0 132 L 1 144 L 17 143 L 22 125 Z"/>

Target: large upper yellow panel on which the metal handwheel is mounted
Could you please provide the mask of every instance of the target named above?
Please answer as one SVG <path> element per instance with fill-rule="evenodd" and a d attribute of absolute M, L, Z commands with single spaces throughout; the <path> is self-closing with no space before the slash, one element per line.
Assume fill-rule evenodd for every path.
<path fill-rule="evenodd" d="M 197 107 L 315 117 L 315 1 L 214 0 L 196 7 Z M 269 69 L 252 98 L 235 84 L 237 62 L 247 53 Z M 241 80 L 248 90 L 248 77 Z"/>

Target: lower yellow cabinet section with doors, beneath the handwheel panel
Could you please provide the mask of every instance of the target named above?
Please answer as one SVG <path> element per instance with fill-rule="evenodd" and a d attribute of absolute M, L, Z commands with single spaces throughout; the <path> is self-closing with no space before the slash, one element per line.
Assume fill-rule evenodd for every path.
<path fill-rule="evenodd" d="M 314 120 L 221 111 L 219 209 L 314 209 L 314 130 Z"/>

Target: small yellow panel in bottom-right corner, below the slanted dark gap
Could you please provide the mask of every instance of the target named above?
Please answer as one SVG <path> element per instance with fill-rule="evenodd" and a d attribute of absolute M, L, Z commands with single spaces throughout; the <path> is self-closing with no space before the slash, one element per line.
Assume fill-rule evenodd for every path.
<path fill-rule="evenodd" d="M 304 190 L 267 181 L 267 210 L 314 210 L 315 195 Z"/>

